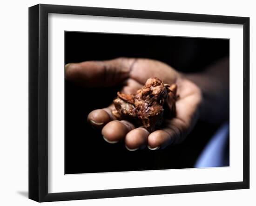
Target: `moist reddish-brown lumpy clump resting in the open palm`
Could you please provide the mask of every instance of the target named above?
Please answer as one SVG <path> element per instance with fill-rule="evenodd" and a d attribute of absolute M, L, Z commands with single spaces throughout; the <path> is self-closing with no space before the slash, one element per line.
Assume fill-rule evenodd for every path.
<path fill-rule="evenodd" d="M 164 112 L 175 116 L 176 91 L 176 84 L 168 85 L 158 78 L 149 78 L 135 94 L 118 92 L 114 100 L 116 110 L 112 113 L 120 120 L 128 120 L 153 132 L 162 125 Z M 168 106 L 164 106 L 167 101 Z"/>

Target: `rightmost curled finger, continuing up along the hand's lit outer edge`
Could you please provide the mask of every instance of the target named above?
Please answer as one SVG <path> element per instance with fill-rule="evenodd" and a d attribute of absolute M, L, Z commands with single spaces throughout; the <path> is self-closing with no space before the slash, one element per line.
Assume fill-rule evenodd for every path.
<path fill-rule="evenodd" d="M 199 116 L 202 95 L 197 87 L 189 81 L 183 80 L 182 86 L 177 87 L 177 94 L 180 95 L 180 98 L 176 101 L 175 105 L 173 104 L 172 96 L 169 96 L 167 99 L 170 110 L 172 110 L 173 106 L 176 107 L 175 114 L 170 113 L 170 118 L 173 118 L 174 115 L 175 118 L 165 120 L 161 130 L 157 130 L 149 135 L 149 149 L 159 149 L 171 144 L 180 143 L 195 126 Z"/>

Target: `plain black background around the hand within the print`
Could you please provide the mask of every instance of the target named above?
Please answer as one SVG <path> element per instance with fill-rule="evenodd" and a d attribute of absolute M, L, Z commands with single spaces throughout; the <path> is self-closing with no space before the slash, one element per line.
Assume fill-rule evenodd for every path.
<path fill-rule="evenodd" d="M 139 57 L 163 61 L 183 73 L 200 72 L 229 55 L 229 40 L 65 32 L 65 63 Z M 109 144 L 87 123 L 94 109 L 108 106 L 120 86 L 87 89 L 65 83 L 65 173 L 191 168 L 218 125 L 198 122 L 186 140 L 163 150 L 128 151 Z"/>

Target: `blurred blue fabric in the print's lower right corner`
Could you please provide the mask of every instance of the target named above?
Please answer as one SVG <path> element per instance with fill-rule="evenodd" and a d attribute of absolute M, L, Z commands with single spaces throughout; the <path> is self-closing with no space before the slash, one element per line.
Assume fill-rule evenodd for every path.
<path fill-rule="evenodd" d="M 225 123 L 217 130 L 197 159 L 195 167 L 229 166 L 227 143 L 229 143 L 229 123 Z"/>

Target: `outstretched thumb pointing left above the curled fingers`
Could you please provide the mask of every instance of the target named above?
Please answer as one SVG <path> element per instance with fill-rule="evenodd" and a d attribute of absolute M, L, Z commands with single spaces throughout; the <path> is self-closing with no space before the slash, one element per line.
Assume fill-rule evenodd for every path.
<path fill-rule="evenodd" d="M 65 66 L 66 78 L 87 87 L 113 86 L 129 77 L 135 60 L 117 58 L 69 63 Z"/>

